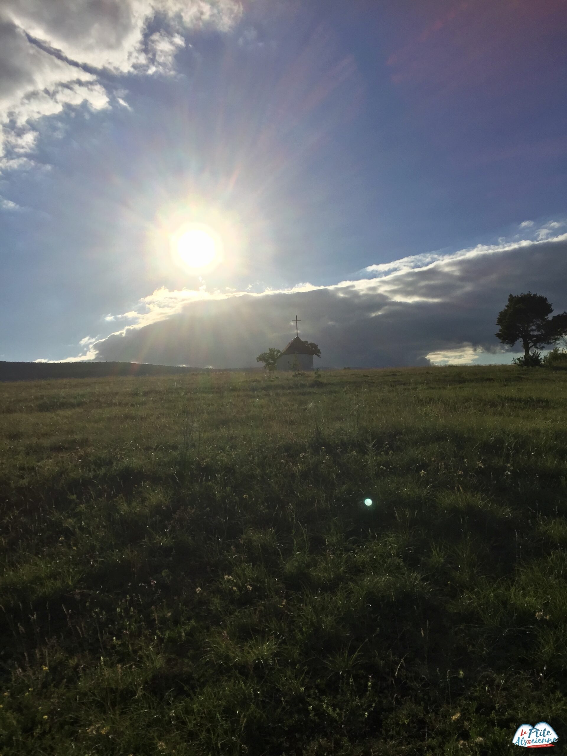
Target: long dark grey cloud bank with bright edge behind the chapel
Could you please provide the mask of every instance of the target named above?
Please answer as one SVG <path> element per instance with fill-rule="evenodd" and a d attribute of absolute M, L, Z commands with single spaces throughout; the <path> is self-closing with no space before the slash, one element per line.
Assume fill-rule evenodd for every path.
<path fill-rule="evenodd" d="M 160 287 L 133 310 L 107 316 L 130 323 L 89 340 L 88 356 L 79 358 L 257 367 L 260 352 L 292 338 L 297 313 L 300 336 L 319 345 L 326 367 L 465 364 L 482 352 L 507 352 L 494 333 L 510 293 L 531 290 L 547 296 L 555 313 L 567 308 L 567 234 L 368 270 L 380 276 L 261 293 Z"/>

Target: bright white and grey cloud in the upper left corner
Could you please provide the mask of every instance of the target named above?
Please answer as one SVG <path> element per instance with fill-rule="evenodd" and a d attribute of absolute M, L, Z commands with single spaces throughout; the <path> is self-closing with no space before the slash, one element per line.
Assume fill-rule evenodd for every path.
<path fill-rule="evenodd" d="M 0 169 L 20 167 L 10 161 L 33 150 L 42 116 L 80 104 L 109 107 L 109 76 L 169 75 L 184 29 L 228 31 L 241 14 L 237 0 L 4 0 L 0 159 L 8 162 Z M 148 35 L 156 17 L 163 28 Z M 124 106 L 122 95 L 115 101 Z"/>

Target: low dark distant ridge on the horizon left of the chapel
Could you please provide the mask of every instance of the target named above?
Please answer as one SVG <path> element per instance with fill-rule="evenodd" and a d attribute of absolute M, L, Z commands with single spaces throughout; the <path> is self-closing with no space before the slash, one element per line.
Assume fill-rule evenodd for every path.
<path fill-rule="evenodd" d="M 179 373 L 206 373 L 210 367 L 176 367 L 135 362 L 4 362 L 0 361 L 0 381 L 48 378 L 102 378 L 104 376 L 160 376 Z M 262 370 L 261 367 L 232 368 Z"/>

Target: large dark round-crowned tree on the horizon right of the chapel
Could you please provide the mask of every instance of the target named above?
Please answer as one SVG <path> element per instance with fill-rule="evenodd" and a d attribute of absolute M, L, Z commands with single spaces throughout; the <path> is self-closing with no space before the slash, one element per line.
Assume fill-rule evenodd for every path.
<path fill-rule="evenodd" d="M 530 349 L 541 349 L 547 344 L 555 344 L 567 333 L 567 312 L 554 315 L 547 297 L 540 294 L 510 294 L 508 304 L 498 314 L 500 326 L 497 336 L 503 344 L 513 346 L 517 341 L 524 348 L 523 364 L 532 364 Z"/>

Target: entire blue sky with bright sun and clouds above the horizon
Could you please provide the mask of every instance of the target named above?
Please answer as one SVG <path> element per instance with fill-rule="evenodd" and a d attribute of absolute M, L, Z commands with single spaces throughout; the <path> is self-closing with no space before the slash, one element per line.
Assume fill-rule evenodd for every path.
<path fill-rule="evenodd" d="M 3 0 L 0 360 L 510 364 L 566 74 L 565 0 Z"/>

